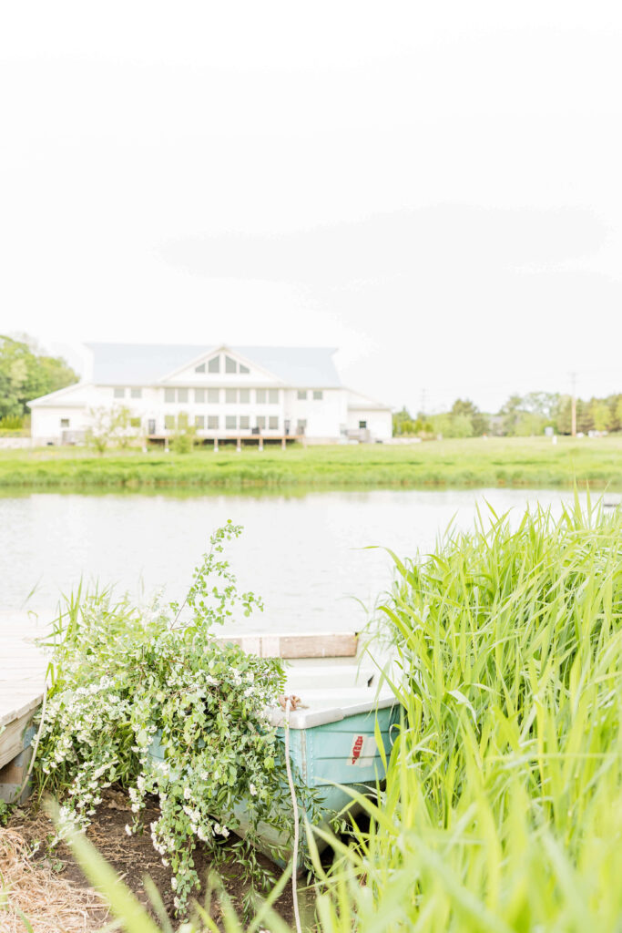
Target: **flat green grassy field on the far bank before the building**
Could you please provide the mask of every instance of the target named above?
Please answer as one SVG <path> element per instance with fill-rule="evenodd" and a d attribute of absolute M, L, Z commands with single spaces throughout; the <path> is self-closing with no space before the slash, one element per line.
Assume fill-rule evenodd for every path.
<path fill-rule="evenodd" d="M 0 489 L 571 486 L 622 488 L 622 437 L 467 439 L 392 447 L 204 448 L 98 456 L 75 448 L 0 452 Z"/>

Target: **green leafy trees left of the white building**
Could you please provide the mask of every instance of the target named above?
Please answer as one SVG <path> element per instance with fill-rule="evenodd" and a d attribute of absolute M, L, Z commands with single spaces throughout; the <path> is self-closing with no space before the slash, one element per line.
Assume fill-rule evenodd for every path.
<path fill-rule="evenodd" d="M 43 354 L 33 341 L 0 335 L 0 417 L 23 415 L 26 403 L 77 382 L 58 356 Z"/>

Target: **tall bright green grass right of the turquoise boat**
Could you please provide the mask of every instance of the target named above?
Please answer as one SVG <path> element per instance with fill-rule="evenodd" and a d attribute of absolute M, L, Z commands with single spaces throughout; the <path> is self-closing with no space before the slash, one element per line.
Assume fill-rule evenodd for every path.
<path fill-rule="evenodd" d="M 482 519 L 395 563 L 403 730 L 323 929 L 619 931 L 620 517 Z"/>

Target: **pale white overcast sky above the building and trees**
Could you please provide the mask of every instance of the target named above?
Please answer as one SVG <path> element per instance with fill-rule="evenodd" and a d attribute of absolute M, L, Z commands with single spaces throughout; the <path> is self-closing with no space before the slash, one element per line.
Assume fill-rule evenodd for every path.
<path fill-rule="evenodd" d="M 0 332 L 622 392 L 621 43 L 594 0 L 5 3 Z"/>

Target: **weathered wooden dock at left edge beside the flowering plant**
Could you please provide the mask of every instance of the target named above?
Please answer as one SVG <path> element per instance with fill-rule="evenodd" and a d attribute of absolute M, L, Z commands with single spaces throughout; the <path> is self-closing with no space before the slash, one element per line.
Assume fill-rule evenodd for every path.
<path fill-rule="evenodd" d="M 41 634 L 23 615 L 0 614 L 0 799 L 5 801 L 17 799 L 30 763 L 32 720 L 48 666 L 35 645 Z"/>

